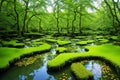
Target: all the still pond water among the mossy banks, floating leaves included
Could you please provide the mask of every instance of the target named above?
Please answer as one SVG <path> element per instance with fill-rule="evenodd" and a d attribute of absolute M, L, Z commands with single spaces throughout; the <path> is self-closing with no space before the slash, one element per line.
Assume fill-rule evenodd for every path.
<path fill-rule="evenodd" d="M 31 46 L 32 42 L 25 45 L 25 48 Z M 65 67 L 61 71 L 48 72 L 47 62 L 57 55 L 56 48 L 59 47 L 57 43 L 52 43 L 52 48 L 49 52 L 43 54 L 36 54 L 32 57 L 25 57 L 15 63 L 10 69 L 4 72 L 1 80 L 75 80 L 71 73 L 70 66 Z M 89 46 L 96 45 L 95 43 L 87 44 Z M 85 52 L 84 46 L 77 45 L 75 41 L 71 44 L 63 46 L 66 52 Z M 101 61 L 82 61 L 83 65 L 93 73 L 93 80 L 119 80 L 117 74 L 107 64 Z"/>

